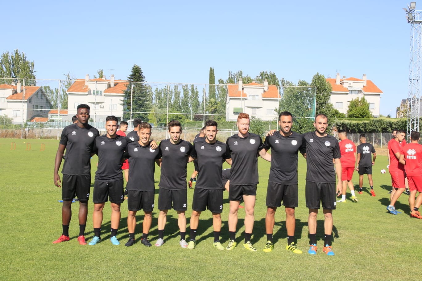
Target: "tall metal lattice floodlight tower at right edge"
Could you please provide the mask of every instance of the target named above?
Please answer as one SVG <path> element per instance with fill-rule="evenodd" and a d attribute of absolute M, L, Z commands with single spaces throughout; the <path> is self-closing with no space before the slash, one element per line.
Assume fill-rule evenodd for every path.
<path fill-rule="evenodd" d="M 407 113 L 407 137 L 410 137 L 411 131 L 419 131 L 419 108 L 420 108 L 420 87 L 421 87 L 421 23 L 422 11 L 416 10 L 416 2 L 407 5 L 407 22 L 410 24 L 410 62 L 409 62 L 409 96 Z"/>

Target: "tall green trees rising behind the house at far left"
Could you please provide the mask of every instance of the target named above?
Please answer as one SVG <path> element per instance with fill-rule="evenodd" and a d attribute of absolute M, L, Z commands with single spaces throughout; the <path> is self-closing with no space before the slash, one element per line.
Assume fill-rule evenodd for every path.
<path fill-rule="evenodd" d="M 6 51 L 0 56 L 0 84 L 12 83 L 14 80 L 21 80 L 23 78 L 35 79 L 34 61 L 27 60 L 24 52 L 19 52 L 16 49 L 13 53 Z M 12 79 L 1 79 L 12 78 Z M 35 80 L 25 81 L 25 85 L 36 85 Z"/>

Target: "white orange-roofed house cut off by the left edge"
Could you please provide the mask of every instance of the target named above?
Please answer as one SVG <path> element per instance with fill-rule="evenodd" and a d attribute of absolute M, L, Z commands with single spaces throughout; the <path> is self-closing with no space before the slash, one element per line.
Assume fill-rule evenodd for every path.
<path fill-rule="evenodd" d="M 20 81 L 0 85 L 0 115 L 13 118 L 14 123 L 47 118 L 50 108 L 41 86 L 22 86 Z"/>

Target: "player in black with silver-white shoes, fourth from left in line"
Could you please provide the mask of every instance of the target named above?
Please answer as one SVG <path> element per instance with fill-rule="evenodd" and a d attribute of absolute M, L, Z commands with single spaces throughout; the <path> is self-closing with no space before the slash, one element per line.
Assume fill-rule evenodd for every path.
<path fill-rule="evenodd" d="M 168 123 L 170 139 L 160 142 L 161 176 L 158 193 L 158 240 L 155 246 L 164 244 L 164 227 L 167 222 L 167 212 L 173 208 L 177 212 L 179 225 L 180 246 L 187 247 L 186 243 L 186 216 L 187 210 L 187 163 L 192 152 L 192 144 L 180 139 L 182 126 L 177 120 Z M 173 204 L 172 204 L 173 203 Z"/>

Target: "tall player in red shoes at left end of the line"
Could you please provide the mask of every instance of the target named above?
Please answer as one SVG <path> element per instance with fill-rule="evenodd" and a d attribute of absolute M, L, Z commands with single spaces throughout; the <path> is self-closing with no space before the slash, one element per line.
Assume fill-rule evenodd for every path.
<path fill-rule="evenodd" d="M 69 224 L 72 218 L 72 199 L 79 199 L 79 244 L 85 245 L 85 227 L 87 226 L 88 199 L 91 189 L 91 156 L 94 141 L 100 132 L 88 124 L 89 106 L 79 104 L 77 107 L 78 123 L 66 126 L 62 131 L 59 148 L 54 160 L 54 185 L 61 187 L 59 168 L 63 154 L 66 152 L 63 164 L 62 187 L 62 236 L 53 242 L 57 244 L 69 241 Z"/>

